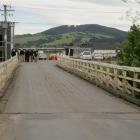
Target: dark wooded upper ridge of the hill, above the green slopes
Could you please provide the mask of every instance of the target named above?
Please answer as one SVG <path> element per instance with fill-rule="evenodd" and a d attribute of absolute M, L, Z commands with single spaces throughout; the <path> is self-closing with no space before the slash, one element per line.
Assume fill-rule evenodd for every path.
<path fill-rule="evenodd" d="M 121 31 L 115 28 L 110 28 L 98 24 L 85 24 L 85 25 L 62 25 L 59 27 L 51 28 L 42 32 L 46 35 L 59 35 L 64 33 L 71 32 L 89 32 L 89 33 L 99 33 L 99 34 L 110 34 L 110 35 L 118 35 L 124 37 L 126 35 L 125 31 Z"/>

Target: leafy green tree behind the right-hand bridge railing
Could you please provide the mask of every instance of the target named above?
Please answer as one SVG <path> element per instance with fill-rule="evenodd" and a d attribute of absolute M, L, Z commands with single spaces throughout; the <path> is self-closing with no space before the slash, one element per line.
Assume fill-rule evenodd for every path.
<path fill-rule="evenodd" d="M 140 67 L 140 26 L 133 25 L 128 32 L 124 48 L 119 54 L 119 63 Z"/>

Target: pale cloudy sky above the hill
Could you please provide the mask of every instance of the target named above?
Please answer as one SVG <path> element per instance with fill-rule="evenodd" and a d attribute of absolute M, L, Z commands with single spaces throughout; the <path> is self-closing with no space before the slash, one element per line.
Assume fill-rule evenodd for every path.
<path fill-rule="evenodd" d="M 1 0 L 1 9 L 3 4 L 10 4 L 15 10 L 9 20 L 17 22 L 16 34 L 81 24 L 100 24 L 128 31 L 132 21 L 126 19 L 126 11 L 136 7 L 131 5 L 131 9 L 121 0 Z"/>

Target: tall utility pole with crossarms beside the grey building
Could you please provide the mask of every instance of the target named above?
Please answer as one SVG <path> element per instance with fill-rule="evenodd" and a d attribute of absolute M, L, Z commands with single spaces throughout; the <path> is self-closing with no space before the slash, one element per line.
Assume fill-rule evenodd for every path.
<path fill-rule="evenodd" d="M 8 5 L 3 5 L 3 10 L 0 10 L 1 12 L 3 12 L 3 16 L 4 16 L 4 47 L 5 47 L 5 60 L 7 60 L 7 29 L 8 29 L 8 21 L 7 21 L 7 16 L 11 16 L 12 14 L 10 14 L 9 12 L 12 12 L 14 10 L 11 9 L 11 6 Z"/>

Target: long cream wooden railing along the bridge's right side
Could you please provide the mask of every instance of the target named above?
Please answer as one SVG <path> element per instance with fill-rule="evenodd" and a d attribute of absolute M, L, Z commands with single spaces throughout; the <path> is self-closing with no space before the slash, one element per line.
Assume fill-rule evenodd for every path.
<path fill-rule="evenodd" d="M 140 68 L 64 57 L 57 66 L 140 105 Z"/>

